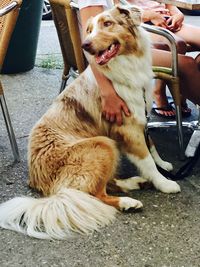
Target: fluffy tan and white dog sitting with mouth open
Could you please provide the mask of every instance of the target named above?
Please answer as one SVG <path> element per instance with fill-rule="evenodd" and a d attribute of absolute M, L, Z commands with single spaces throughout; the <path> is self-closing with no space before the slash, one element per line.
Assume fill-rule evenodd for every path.
<path fill-rule="evenodd" d="M 36 238 L 65 238 L 88 233 L 111 222 L 117 209 L 141 208 L 130 197 L 106 193 L 115 178 L 119 152 L 126 154 L 143 178 L 114 179 L 124 192 L 150 181 L 164 193 L 179 185 L 161 175 L 163 161 L 150 140 L 145 109 L 151 107 L 151 45 L 140 26 L 140 11 L 114 7 L 91 18 L 83 48 L 92 64 L 112 81 L 131 116 L 117 126 L 102 119 L 99 88 L 88 67 L 54 101 L 29 138 L 29 185 L 44 198 L 19 197 L 0 206 L 0 226 Z M 144 97 L 145 96 L 145 97 Z M 145 99 L 144 99 L 145 98 Z M 150 151 L 150 152 L 149 152 Z"/>

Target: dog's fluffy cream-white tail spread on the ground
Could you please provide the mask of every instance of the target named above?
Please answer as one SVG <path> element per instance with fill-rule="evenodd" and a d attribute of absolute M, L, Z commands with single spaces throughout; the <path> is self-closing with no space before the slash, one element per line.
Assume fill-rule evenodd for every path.
<path fill-rule="evenodd" d="M 109 224 L 116 209 L 75 189 L 35 199 L 17 197 L 0 205 L 0 226 L 35 238 L 64 239 Z"/>

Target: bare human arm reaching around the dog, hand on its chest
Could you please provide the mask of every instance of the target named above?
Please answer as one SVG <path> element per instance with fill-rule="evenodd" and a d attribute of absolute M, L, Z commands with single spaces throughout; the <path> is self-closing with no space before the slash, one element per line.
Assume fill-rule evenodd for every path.
<path fill-rule="evenodd" d="M 83 38 L 86 32 L 87 20 L 91 16 L 95 16 L 103 11 L 102 6 L 88 6 L 80 10 L 82 21 Z M 100 88 L 102 100 L 102 115 L 110 122 L 115 122 L 118 125 L 123 123 L 122 112 L 129 116 L 130 112 L 126 103 L 117 95 L 110 80 L 101 74 L 94 65 L 91 65 L 94 76 Z"/>

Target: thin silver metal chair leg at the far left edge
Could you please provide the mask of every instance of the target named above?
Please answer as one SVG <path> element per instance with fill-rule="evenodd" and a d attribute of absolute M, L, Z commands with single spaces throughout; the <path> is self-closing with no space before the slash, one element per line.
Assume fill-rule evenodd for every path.
<path fill-rule="evenodd" d="M 12 151 L 13 151 L 14 160 L 15 160 L 15 162 L 19 162 L 20 157 L 19 157 L 18 146 L 17 146 L 15 134 L 14 134 L 14 131 L 13 131 L 13 127 L 12 127 L 12 124 L 11 124 L 8 108 L 7 108 L 7 105 L 6 105 L 6 100 L 5 100 L 5 97 L 4 97 L 3 94 L 0 96 L 0 104 L 1 104 L 3 117 L 4 117 L 6 128 L 7 128 L 8 137 L 9 137 L 9 140 L 10 140 L 11 148 L 12 148 Z"/>

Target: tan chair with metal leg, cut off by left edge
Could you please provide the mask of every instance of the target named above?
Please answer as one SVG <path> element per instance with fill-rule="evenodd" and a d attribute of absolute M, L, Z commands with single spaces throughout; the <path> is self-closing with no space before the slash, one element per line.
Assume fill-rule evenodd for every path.
<path fill-rule="evenodd" d="M 0 3 L 0 71 L 2 69 L 9 41 L 14 30 L 22 0 L 1 0 Z M 11 124 L 6 100 L 3 93 L 3 85 L 0 80 L 0 105 L 3 112 L 10 144 L 15 162 L 19 161 L 19 152 L 13 127 Z"/>

